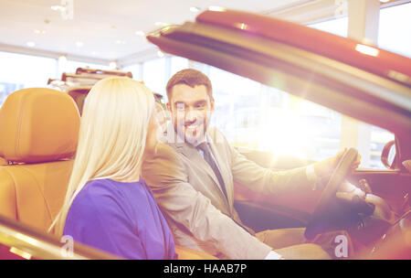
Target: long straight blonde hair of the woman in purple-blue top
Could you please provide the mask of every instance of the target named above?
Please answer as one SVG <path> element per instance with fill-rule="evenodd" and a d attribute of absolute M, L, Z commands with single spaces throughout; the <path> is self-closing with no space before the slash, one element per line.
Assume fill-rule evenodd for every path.
<path fill-rule="evenodd" d="M 49 231 L 54 227 L 55 234 L 63 234 L 68 209 L 90 180 L 136 176 L 153 110 L 153 92 L 139 81 L 110 78 L 91 88 L 83 107 L 66 198 Z"/>

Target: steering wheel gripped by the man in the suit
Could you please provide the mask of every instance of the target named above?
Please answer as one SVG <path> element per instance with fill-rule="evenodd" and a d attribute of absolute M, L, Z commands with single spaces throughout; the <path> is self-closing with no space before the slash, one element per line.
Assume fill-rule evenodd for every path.
<path fill-rule="evenodd" d="M 357 158 L 358 152 L 354 148 L 349 148 L 342 155 L 338 165 L 332 172 L 332 176 L 321 193 L 320 201 L 311 216 L 311 220 L 307 225 L 305 230 L 305 238 L 308 240 L 313 239 L 318 233 L 321 232 L 321 219 L 327 215 L 328 208 L 333 200 L 335 200 L 335 195 L 337 193 L 338 187 L 342 184 L 345 177 L 349 174 L 351 166 L 355 159 Z"/>

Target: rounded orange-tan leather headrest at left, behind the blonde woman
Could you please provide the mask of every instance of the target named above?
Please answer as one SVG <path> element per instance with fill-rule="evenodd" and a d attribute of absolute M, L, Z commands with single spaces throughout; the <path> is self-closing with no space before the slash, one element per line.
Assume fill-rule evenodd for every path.
<path fill-rule="evenodd" d="M 39 163 L 72 157 L 79 136 L 79 110 L 68 94 L 30 88 L 10 94 L 0 109 L 0 156 Z"/>

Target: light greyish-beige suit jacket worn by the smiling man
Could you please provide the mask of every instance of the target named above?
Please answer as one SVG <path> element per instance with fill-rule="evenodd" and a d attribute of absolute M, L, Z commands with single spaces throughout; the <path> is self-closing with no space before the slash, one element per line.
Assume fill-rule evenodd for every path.
<path fill-rule="evenodd" d="M 253 236 L 233 207 L 237 182 L 275 195 L 311 187 L 305 168 L 275 172 L 240 155 L 215 128 L 206 136 L 227 189 L 227 198 L 212 168 L 190 144 L 158 144 L 147 155 L 142 177 L 152 188 L 176 244 L 220 258 L 264 259 L 271 248 Z"/>

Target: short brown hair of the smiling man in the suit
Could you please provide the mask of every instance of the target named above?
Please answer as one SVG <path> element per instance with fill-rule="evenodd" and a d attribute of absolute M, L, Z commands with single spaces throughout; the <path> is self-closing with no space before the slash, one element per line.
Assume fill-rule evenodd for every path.
<path fill-rule="evenodd" d="M 195 86 L 204 85 L 210 99 L 213 98 L 213 88 L 211 86 L 211 81 L 203 72 L 199 70 L 183 69 L 175 73 L 173 77 L 168 80 L 165 89 L 167 91 L 167 98 L 169 102 L 172 98 L 173 87 L 177 84 L 185 84 L 192 88 L 195 88 Z"/>

